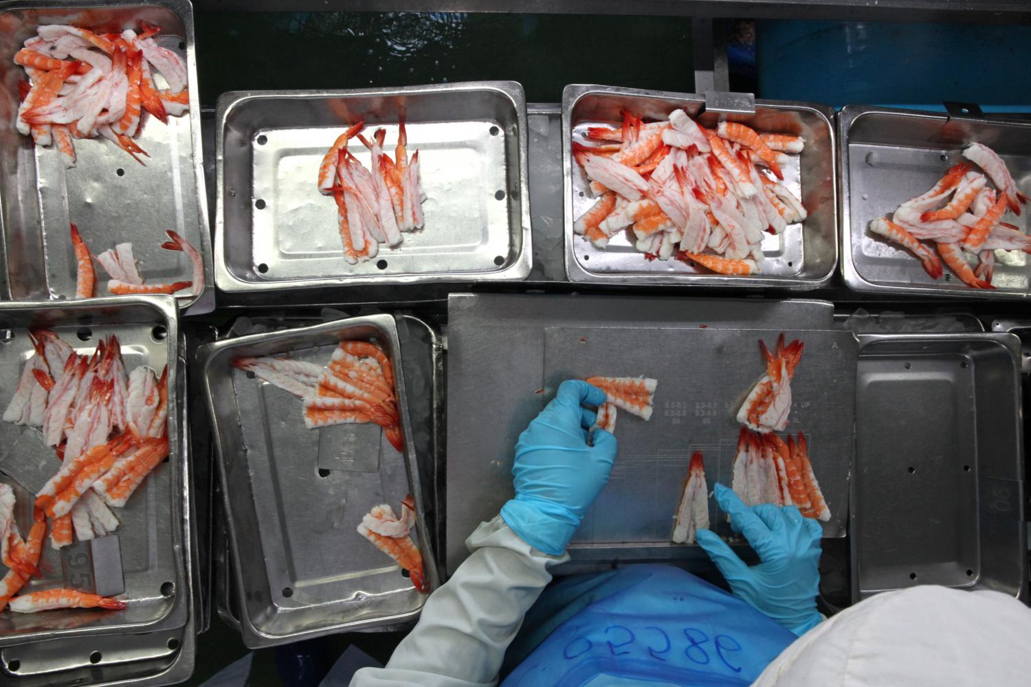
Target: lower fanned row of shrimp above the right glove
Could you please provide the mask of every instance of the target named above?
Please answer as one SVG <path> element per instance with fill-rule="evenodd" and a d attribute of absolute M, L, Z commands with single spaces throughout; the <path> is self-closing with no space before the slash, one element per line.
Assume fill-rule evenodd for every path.
<path fill-rule="evenodd" d="M 786 444 L 773 432 L 760 434 L 742 426 L 731 488 L 745 506 L 795 506 L 807 518 L 831 519 L 801 432 L 797 440 L 789 435 Z"/>

